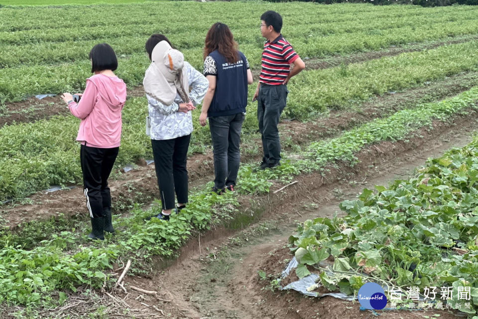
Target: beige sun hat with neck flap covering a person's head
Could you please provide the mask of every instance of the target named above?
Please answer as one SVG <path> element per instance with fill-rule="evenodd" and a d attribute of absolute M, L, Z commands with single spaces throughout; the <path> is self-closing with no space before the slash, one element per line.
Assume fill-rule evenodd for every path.
<path fill-rule="evenodd" d="M 171 105 L 176 93 L 184 102 L 189 102 L 188 74 L 183 66 L 183 54 L 171 48 L 168 42 L 159 42 L 151 53 L 151 64 L 144 74 L 144 91 L 164 105 Z"/>

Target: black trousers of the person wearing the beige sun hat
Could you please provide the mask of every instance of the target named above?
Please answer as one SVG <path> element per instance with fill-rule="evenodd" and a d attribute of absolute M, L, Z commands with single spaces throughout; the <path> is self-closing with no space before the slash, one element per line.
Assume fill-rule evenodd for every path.
<path fill-rule="evenodd" d="M 151 140 L 161 206 L 165 210 L 174 208 L 175 192 L 178 203 L 188 202 L 186 162 L 190 140 L 191 134 L 170 140 Z"/>

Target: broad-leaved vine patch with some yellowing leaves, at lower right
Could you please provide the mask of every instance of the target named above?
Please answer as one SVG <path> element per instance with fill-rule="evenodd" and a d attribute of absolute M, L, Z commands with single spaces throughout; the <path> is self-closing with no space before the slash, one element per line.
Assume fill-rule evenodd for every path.
<path fill-rule="evenodd" d="M 438 287 L 438 294 L 440 287 L 450 287 L 451 298 L 438 295 L 436 301 L 477 319 L 477 194 L 475 138 L 462 149 L 428 160 L 408 180 L 375 186 L 375 192 L 365 188 L 359 199 L 340 204 L 345 217 L 316 218 L 299 226 L 289 238 L 299 261 L 296 273 L 302 278 L 310 274 L 307 265 L 319 268 L 324 287 L 346 294 L 367 281 L 401 290 L 404 296 L 410 287 L 421 293 Z M 329 256 L 334 264 L 327 271 L 318 263 Z M 469 287 L 467 300 L 461 299 L 459 287 Z"/>

